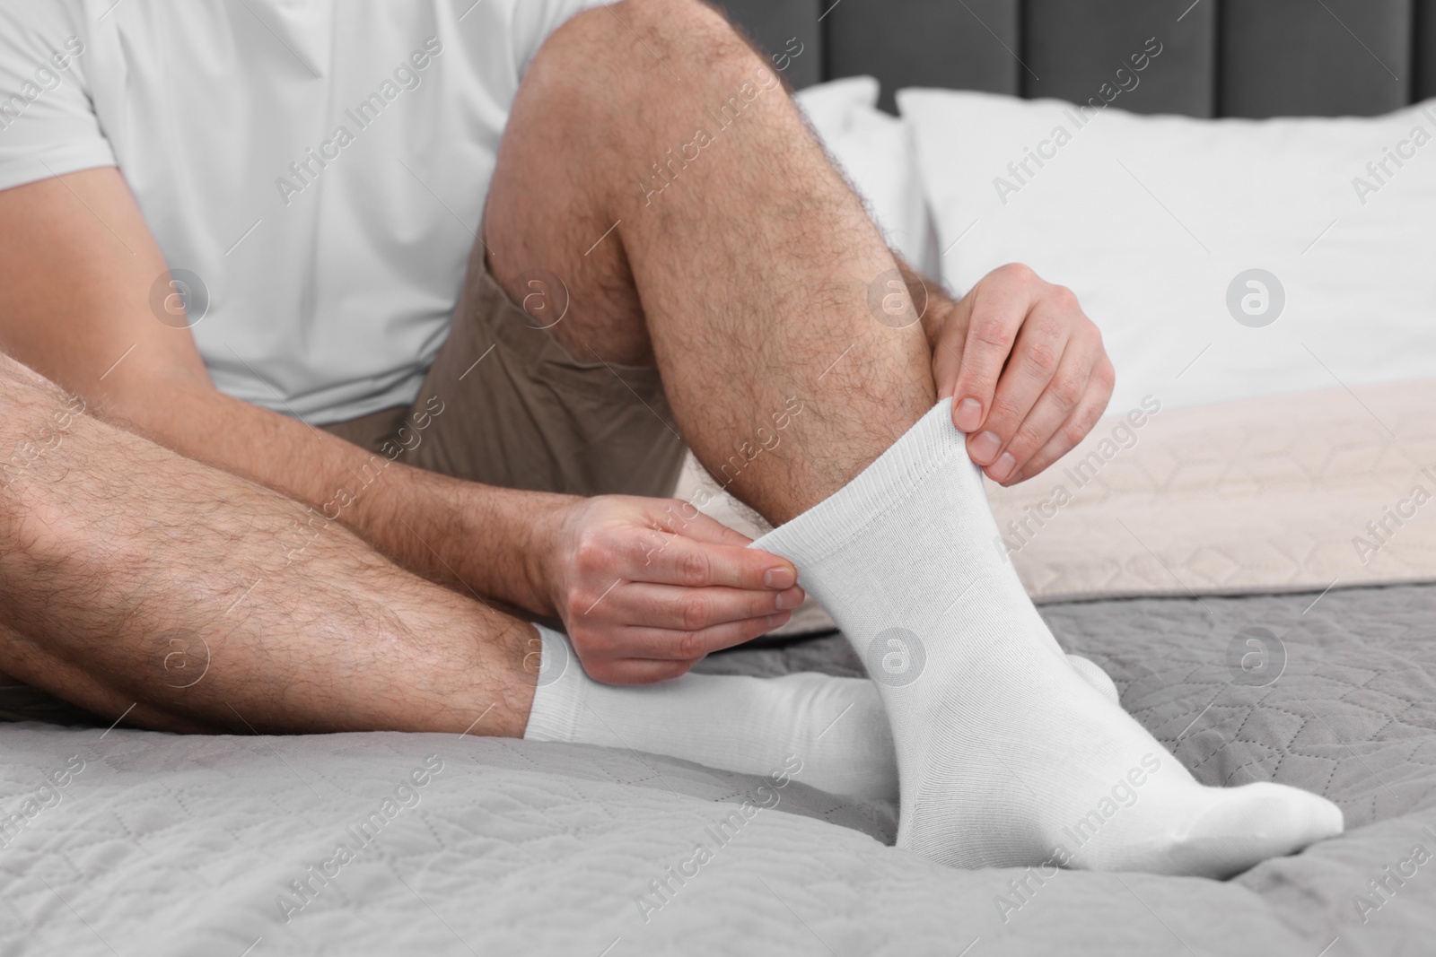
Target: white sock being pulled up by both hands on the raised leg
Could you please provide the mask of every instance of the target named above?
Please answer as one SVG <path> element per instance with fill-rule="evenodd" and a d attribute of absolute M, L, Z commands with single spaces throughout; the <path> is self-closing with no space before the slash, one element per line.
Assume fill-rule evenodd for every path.
<path fill-rule="evenodd" d="M 1335 805 L 1295 788 L 1199 785 L 1068 664 L 997 541 L 945 400 L 752 545 L 797 564 L 879 684 L 899 847 L 958 867 L 1225 877 L 1341 831 Z"/>

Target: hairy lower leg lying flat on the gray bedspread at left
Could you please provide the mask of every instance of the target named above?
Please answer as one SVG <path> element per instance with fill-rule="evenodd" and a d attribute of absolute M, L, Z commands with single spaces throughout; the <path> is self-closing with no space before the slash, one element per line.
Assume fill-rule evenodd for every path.
<path fill-rule="evenodd" d="M 0 670 L 22 682 L 171 730 L 523 733 L 531 626 L 4 356 L 0 456 Z"/>

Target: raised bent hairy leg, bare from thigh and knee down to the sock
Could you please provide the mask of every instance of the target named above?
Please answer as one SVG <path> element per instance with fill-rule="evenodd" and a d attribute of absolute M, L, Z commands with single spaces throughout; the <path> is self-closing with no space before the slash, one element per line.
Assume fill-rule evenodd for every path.
<path fill-rule="evenodd" d="M 773 65 L 691 0 L 628 0 L 549 39 L 484 238 L 516 301 L 566 293 L 551 334 L 570 353 L 656 362 L 699 461 L 770 521 L 935 402 L 910 301 L 869 307 L 903 288 L 877 228 Z"/>

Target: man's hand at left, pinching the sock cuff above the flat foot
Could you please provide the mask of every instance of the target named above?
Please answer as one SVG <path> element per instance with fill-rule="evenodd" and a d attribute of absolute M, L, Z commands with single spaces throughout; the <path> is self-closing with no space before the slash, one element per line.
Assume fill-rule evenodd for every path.
<path fill-rule="evenodd" d="M 678 499 L 577 499 L 550 524 L 543 572 L 583 670 L 599 682 L 678 677 L 709 651 L 785 623 L 797 568 Z"/>

